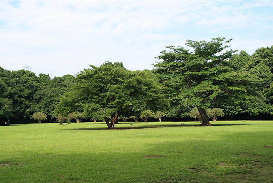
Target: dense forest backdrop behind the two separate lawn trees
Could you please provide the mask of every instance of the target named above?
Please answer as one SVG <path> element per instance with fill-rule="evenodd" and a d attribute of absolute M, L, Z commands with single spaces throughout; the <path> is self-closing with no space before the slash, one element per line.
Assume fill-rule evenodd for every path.
<path fill-rule="evenodd" d="M 173 49 L 174 47 L 167 48 Z M 162 55 L 166 53 L 166 51 L 164 51 L 161 52 Z M 157 58 L 164 59 L 162 55 L 158 56 Z M 162 65 L 158 65 L 158 63 L 154 64 L 155 69 L 153 70 L 129 71 L 124 68 L 121 62 L 112 63 L 107 61 L 100 67 L 91 66 L 89 71 L 99 68 L 102 69 L 103 66 L 107 65 L 114 68 L 124 68 L 123 70 L 130 72 L 130 75 L 140 77 L 142 84 L 150 83 L 149 87 L 151 88 L 148 91 L 149 93 L 144 93 L 144 91 L 142 91 L 142 94 L 143 96 L 150 97 L 151 101 L 155 101 L 158 98 L 162 99 L 161 104 L 159 101 L 155 101 L 155 103 L 150 102 L 150 104 L 151 106 L 153 105 L 155 111 L 164 111 L 166 114 L 164 120 L 194 120 L 193 118 L 189 118 L 189 113 L 195 106 L 190 104 L 185 105 L 185 103 L 183 104 L 181 102 L 177 103 L 179 100 L 175 93 L 177 86 L 170 84 L 174 82 L 175 79 L 171 78 L 170 80 L 167 80 L 168 82 L 163 81 L 162 78 L 166 76 L 166 70 L 162 70 Z M 225 116 L 220 117 L 219 119 L 221 120 L 272 119 L 273 46 L 261 47 L 252 55 L 245 51 L 232 54 L 230 59 L 227 60 L 227 63 L 233 71 L 248 73 L 252 76 L 252 78 L 255 78 L 255 81 L 250 82 L 250 85 L 248 86 L 250 91 L 255 92 L 255 97 L 253 97 L 253 94 L 247 94 L 245 97 L 241 98 L 228 98 L 228 96 L 224 96 L 225 98 L 222 99 L 225 99 L 225 102 L 219 102 L 221 98 L 217 98 L 214 103 L 210 102 L 210 106 L 207 107 L 223 109 Z M 86 74 L 87 71 L 88 69 L 84 69 L 76 76 L 65 75 L 63 77 L 50 78 L 49 75 L 42 73 L 36 76 L 35 73 L 28 70 L 9 71 L 0 67 L 0 124 L 2 125 L 5 121 L 8 121 L 10 124 L 32 123 L 34 122 L 32 116 L 36 112 L 45 113 L 47 115 L 46 122 L 55 122 L 57 118 L 56 111 L 58 111 L 58 104 L 60 105 L 60 100 L 62 97 L 64 98 L 67 93 L 71 92 L 72 88 L 75 88 L 75 85 L 79 83 L 77 81 L 82 79 L 84 73 Z M 103 72 L 104 71 L 102 69 L 101 73 Z M 107 73 L 108 72 L 105 72 L 104 75 L 107 75 Z M 123 77 L 122 72 L 115 73 L 121 74 L 117 75 L 116 77 Z M 108 74 L 113 75 L 115 73 Z M 147 86 L 146 84 L 145 86 Z M 183 84 L 180 84 L 180 86 L 182 85 Z M 127 86 L 127 89 L 128 90 L 126 91 L 130 91 L 129 85 Z M 117 90 L 117 88 L 113 88 L 113 91 Z M 137 89 L 135 88 L 134 90 Z M 152 96 L 151 94 L 155 95 Z M 130 99 L 130 102 L 132 103 L 133 100 Z M 164 102 L 164 105 L 162 105 L 162 101 Z M 137 104 L 137 102 L 141 101 L 137 101 L 135 98 L 135 104 Z M 132 111 L 132 109 L 130 110 Z M 141 111 L 138 111 L 139 115 L 140 112 Z M 132 115 L 134 114 L 124 112 L 120 117 L 130 117 Z M 90 120 L 92 120 L 92 116 L 85 115 L 83 121 Z"/>

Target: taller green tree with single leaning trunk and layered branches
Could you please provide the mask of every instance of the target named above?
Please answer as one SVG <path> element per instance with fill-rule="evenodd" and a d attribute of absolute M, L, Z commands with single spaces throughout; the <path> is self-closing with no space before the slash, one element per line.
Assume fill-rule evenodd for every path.
<path fill-rule="evenodd" d="M 235 71 L 229 64 L 236 51 L 227 49 L 231 40 L 214 38 L 211 41 L 187 40 L 186 45 L 192 51 L 181 46 L 167 46 L 156 58 L 157 73 L 161 82 L 171 88 L 170 101 L 181 108 L 196 106 L 202 118 L 202 126 L 210 126 L 206 108 L 213 108 L 213 103 L 223 102 L 236 95 L 246 98 L 251 92 L 250 81 L 255 79 L 249 72 Z"/>

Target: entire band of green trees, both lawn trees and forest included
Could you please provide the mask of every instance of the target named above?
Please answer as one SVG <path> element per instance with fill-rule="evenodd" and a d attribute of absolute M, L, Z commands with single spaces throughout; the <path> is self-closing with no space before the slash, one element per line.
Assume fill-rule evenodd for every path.
<path fill-rule="evenodd" d="M 51 79 L 26 70 L 0 68 L 0 121 L 19 123 L 43 112 L 48 121 L 118 120 L 149 116 L 183 118 L 198 110 L 209 126 L 207 109 L 222 109 L 232 119 L 273 114 L 273 46 L 252 55 L 229 49 L 231 40 L 187 40 L 166 46 L 153 70 L 131 71 L 121 62 L 90 65 L 75 77 Z M 148 114 L 150 113 L 150 114 Z M 144 114 L 148 114 L 144 117 Z M 235 117 L 235 118 L 234 118 Z M 161 117 L 160 117 L 161 120 Z"/>

